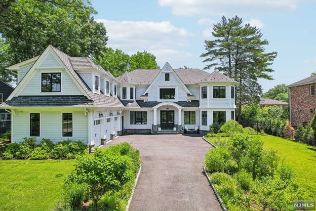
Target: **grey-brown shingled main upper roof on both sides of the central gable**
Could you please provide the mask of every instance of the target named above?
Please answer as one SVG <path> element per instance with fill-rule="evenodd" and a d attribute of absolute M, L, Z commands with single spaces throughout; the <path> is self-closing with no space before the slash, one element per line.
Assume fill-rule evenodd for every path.
<path fill-rule="evenodd" d="M 184 84 L 197 84 L 203 82 L 232 82 L 237 83 L 229 77 L 214 71 L 207 73 L 200 69 L 173 69 Z M 126 75 L 131 77 L 137 84 L 151 84 L 157 77 L 160 69 L 136 69 Z M 125 74 L 125 73 L 124 73 Z M 123 76 L 123 75 L 122 75 Z M 120 76 L 121 77 L 121 76 Z M 119 78 L 118 77 L 118 81 Z"/>

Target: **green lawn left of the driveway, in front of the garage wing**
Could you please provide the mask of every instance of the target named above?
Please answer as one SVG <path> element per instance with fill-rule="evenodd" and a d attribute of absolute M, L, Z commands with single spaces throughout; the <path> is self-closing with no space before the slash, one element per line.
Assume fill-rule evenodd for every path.
<path fill-rule="evenodd" d="M 0 210 L 51 211 L 75 160 L 0 161 Z"/>

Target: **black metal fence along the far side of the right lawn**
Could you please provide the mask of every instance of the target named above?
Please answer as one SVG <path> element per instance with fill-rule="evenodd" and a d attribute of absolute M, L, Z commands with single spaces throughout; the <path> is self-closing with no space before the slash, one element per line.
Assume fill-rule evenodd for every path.
<path fill-rule="evenodd" d="M 294 140 L 294 133 L 295 130 L 284 130 L 284 128 L 281 127 L 274 127 L 271 123 L 271 121 L 244 121 L 241 122 L 240 125 L 242 127 L 251 127 L 255 131 L 251 135 L 260 134 L 261 130 L 264 130 L 265 133 L 269 135 L 274 135 L 282 138 L 288 138 L 291 140 Z M 312 140 L 304 140 L 303 143 L 316 146 L 316 134 L 314 134 L 314 137 Z"/>

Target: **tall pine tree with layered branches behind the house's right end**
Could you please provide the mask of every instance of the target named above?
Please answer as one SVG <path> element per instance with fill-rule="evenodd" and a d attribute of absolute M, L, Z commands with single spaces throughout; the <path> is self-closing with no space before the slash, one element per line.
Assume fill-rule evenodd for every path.
<path fill-rule="evenodd" d="M 269 68 L 277 53 L 266 53 L 264 46 L 269 44 L 262 39 L 262 33 L 249 24 L 242 25 L 238 16 L 222 20 L 214 24 L 212 35 L 214 40 L 205 40 L 206 52 L 201 54 L 207 62 L 204 68 L 214 68 L 234 79 L 236 87 L 236 103 L 238 121 L 241 121 L 241 104 L 258 101 L 262 95 L 258 79 L 273 80 Z"/>

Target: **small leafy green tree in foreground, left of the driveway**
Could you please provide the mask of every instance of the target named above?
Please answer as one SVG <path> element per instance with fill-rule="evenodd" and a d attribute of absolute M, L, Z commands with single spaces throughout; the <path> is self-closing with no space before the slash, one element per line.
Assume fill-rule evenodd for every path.
<path fill-rule="evenodd" d="M 66 183 L 86 183 L 90 187 L 94 210 L 101 197 L 110 190 L 121 187 L 133 176 L 131 161 L 106 150 L 97 150 L 93 155 L 84 155 L 76 159 L 75 169 L 66 178 Z"/>

